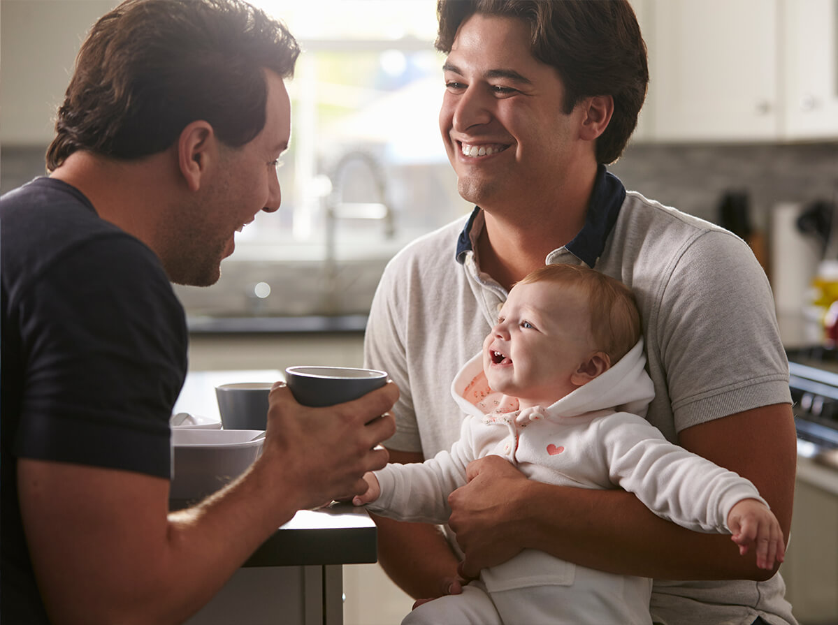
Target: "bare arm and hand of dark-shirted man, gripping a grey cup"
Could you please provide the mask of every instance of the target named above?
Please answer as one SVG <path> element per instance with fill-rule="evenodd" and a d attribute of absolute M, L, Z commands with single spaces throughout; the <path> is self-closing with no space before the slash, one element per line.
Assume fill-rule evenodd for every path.
<path fill-rule="evenodd" d="M 18 497 L 55 623 L 184 622 L 298 509 L 362 492 L 385 465 L 395 385 L 308 408 L 271 391 L 261 456 L 201 504 L 168 514 L 169 481 L 144 473 L 18 461 Z M 323 456 L 323 449 L 334 449 Z"/>

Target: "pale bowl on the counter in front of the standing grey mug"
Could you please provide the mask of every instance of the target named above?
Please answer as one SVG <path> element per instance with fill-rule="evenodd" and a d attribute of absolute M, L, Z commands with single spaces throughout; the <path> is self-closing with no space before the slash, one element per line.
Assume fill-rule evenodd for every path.
<path fill-rule="evenodd" d="M 264 434 L 261 430 L 173 429 L 169 498 L 199 500 L 238 478 L 259 457 Z"/>

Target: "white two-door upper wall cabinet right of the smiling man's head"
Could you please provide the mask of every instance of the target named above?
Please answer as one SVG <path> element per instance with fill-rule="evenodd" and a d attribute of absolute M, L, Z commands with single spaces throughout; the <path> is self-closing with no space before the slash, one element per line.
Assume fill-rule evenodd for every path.
<path fill-rule="evenodd" d="M 639 0 L 649 97 L 639 139 L 838 137 L 838 0 Z"/>

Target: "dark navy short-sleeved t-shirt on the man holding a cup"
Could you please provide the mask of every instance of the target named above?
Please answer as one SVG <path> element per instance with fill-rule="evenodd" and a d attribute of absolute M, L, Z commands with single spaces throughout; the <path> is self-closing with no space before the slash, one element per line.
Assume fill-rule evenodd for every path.
<path fill-rule="evenodd" d="M 153 251 L 52 178 L 0 198 L 0 284 L 0 621 L 48 622 L 17 460 L 168 478 L 186 322 Z"/>

